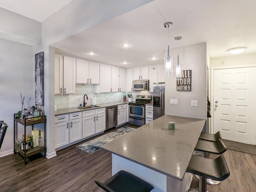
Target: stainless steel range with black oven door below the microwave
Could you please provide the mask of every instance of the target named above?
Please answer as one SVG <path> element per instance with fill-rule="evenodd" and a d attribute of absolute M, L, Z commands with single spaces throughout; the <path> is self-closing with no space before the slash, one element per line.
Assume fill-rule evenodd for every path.
<path fill-rule="evenodd" d="M 150 103 L 151 96 L 137 95 L 136 101 L 130 102 L 129 123 L 132 125 L 145 125 L 145 104 Z"/>

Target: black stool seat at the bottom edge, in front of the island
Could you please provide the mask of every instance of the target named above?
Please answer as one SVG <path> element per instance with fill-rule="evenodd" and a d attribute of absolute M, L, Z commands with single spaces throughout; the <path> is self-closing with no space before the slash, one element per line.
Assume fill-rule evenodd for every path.
<path fill-rule="evenodd" d="M 95 182 L 106 192 L 150 192 L 154 189 L 148 182 L 124 170 L 120 170 L 104 183 L 97 180 Z"/>

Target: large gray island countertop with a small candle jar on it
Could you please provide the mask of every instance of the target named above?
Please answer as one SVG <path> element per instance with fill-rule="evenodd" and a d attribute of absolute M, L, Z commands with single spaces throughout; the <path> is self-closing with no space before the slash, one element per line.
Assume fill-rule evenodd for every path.
<path fill-rule="evenodd" d="M 168 129 L 175 122 L 175 130 Z M 182 181 L 204 119 L 164 115 L 101 148 Z"/>

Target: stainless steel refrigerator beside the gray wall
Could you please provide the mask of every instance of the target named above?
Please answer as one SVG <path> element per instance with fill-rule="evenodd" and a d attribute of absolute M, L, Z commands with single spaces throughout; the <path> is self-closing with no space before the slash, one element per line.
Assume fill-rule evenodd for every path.
<path fill-rule="evenodd" d="M 165 84 L 153 83 L 153 119 L 164 115 Z"/>

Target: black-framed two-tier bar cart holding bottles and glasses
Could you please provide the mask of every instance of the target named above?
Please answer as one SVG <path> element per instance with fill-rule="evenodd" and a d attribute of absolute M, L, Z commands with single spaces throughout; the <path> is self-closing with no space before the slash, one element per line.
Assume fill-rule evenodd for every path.
<path fill-rule="evenodd" d="M 18 123 L 24 126 L 25 140 L 18 143 Z M 32 125 L 32 130 L 34 130 L 34 125 L 38 123 L 44 123 L 44 141 L 40 145 L 36 145 L 30 149 L 26 148 L 26 126 Z M 33 138 L 34 139 L 34 138 Z M 22 148 L 23 145 L 23 148 Z M 25 146 L 25 147 L 24 147 Z M 24 164 L 27 164 L 26 158 L 40 152 L 44 152 L 44 158 L 46 157 L 46 115 L 39 117 L 25 118 L 23 121 L 18 117 L 18 114 L 14 114 L 14 154 L 19 153 L 24 157 Z"/>

